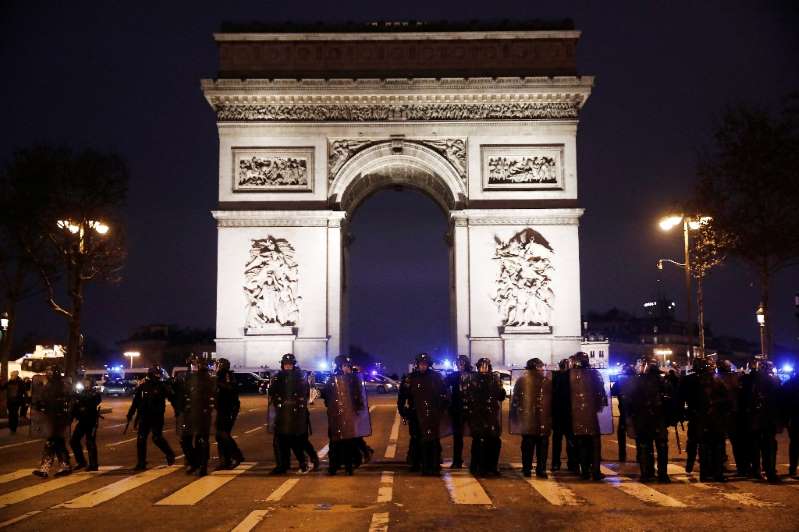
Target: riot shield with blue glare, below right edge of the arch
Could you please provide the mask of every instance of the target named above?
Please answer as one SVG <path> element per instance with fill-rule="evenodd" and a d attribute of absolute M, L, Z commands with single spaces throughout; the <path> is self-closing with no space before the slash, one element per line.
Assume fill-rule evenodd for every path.
<path fill-rule="evenodd" d="M 569 370 L 572 433 L 575 436 L 595 436 L 613 432 L 613 417 L 610 401 L 607 400 L 609 392 L 606 388 L 607 385 L 598 370 L 593 368 Z"/>

